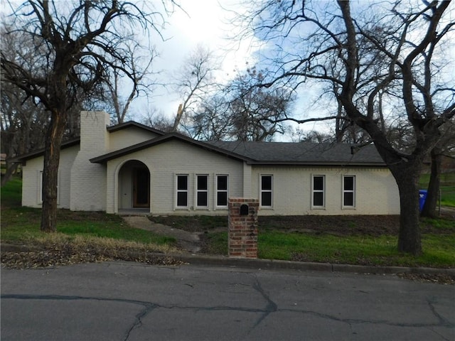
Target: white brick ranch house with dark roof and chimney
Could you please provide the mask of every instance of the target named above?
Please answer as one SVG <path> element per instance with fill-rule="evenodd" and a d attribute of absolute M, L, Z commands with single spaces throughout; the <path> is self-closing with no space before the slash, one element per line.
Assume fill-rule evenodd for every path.
<path fill-rule="evenodd" d="M 63 144 L 58 207 L 108 213 L 227 215 L 228 197 L 259 199 L 259 215 L 397 215 L 397 185 L 374 146 L 196 141 L 81 112 Z M 23 164 L 22 205 L 41 207 L 43 151 Z"/>

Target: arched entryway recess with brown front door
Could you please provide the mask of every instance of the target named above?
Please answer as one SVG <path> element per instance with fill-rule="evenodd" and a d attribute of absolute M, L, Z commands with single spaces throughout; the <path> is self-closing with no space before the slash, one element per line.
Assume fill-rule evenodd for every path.
<path fill-rule="evenodd" d="M 150 210 L 150 171 L 141 161 L 124 163 L 119 171 L 119 210 Z"/>

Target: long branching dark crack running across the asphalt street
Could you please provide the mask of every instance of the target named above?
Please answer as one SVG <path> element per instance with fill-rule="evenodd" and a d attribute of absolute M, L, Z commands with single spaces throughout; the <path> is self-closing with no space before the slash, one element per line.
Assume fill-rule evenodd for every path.
<path fill-rule="evenodd" d="M 269 298 L 267 293 L 265 293 L 264 288 L 262 288 L 261 283 L 256 280 L 253 284 L 252 288 L 255 289 L 258 293 L 261 294 L 262 298 L 267 301 L 267 306 L 265 308 L 240 308 L 240 307 L 230 307 L 227 305 L 220 305 L 220 306 L 213 306 L 213 307 L 198 307 L 198 306 L 191 306 L 191 305 L 159 305 L 152 302 L 147 301 L 138 301 L 138 300 L 129 300 L 123 298 L 100 298 L 100 297 L 90 297 L 90 296 L 60 296 L 60 295 L 30 295 L 30 294 L 4 294 L 1 295 L 0 298 L 3 299 L 17 299 L 17 300 L 49 300 L 49 301 L 110 301 L 110 302 L 118 302 L 118 303 L 131 303 L 142 305 L 144 309 L 142 309 L 136 316 L 134 323 L 128 328 L 127 332 L 125 332 L 124 341 L 127 341 L 129 335 L 131 334 L 132 330 L 135 328 L 140 328 L 142 325 L 142 319 L 151 313 L 156 308 L 166 308 L 166 309 L 182 309 L 182 310 L 199 310 L 199 311 L 221 311 L 221 310 L 232 310 L 232 311 L 239 311 L 239 312 L 247 312 L 247 313 L 260 313 L 258 320 L 252 326 L 251 330 L 255 329 L 262 321 L 267 318 L 267 316 L 271 313 L 280 311 L 280 312 L 291 312 L 291 313 L 301 313 L 301 314 L 309 314 L 314 315 L 319 318 L 333 320 L 341 323 L 347 323 L 348 325 L 353 324 L 364 324 L 364 323 L 371 323 L 373 325 L 390 325 L 395 327 L 407 327 L 407 328 L 429 328 L 432 330 L 433 327 L 445 327 L 445 328 L 454 328 L 455 324 L 451 323 L 449 320 L 443 318 L 439 313 L 437 313 L 436 308 L 434 307 L 433 302 L 428 301 L 429 309 L 432 310 L 434 316 L 437 317 L 437 323 L 394 323 L 388 320 L 361 320 L 355 318 L 337 318 L 333 315 L 328 315 L 324 313 L 318 313 L 313 310 L 299 310 L 299 309 L 288 309 L 288 308 L 278 308 L 277 304 Z M 352 326 L 351 326 L 352 327 Z M 251 331 L 250 330 L 250 331 Z M 436 332 L 432 330 L 433 332 Z M 437 333 L 439 335 L 439 333 Z M 441 335 L 440 335 L 441 336 Z"/>

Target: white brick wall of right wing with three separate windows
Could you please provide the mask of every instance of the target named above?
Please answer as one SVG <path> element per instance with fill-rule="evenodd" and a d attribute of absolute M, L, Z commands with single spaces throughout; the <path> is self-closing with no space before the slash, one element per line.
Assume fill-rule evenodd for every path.
<path fill-rule="evenodd" d="M 385 168 L 253 166 L 252 195 L 259 197 L 259 175 L 273 175 L 272 209 L 259 215 L 397 215 L 400 196 Z M 325 175 L 325 207 L 311 207 L 311 175 Z M 355 175 L 355 208 L 342 207 L 343 175 Z"/>

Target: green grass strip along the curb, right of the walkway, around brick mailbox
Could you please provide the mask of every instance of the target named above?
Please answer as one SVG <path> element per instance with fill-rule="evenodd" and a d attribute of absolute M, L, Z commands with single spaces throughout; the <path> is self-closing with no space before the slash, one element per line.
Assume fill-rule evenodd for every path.
<path fill-rule="evenodd" d="M 228 254 L 228 232 L 207 235 L 207 250 Z M 299 232 L 264 231 L 259 228 L 259 258 L 378 266 L 455 267 L 455 232 L 423 234 L 421 256 L 397 251 L 397 236 L 335 236 Z"/>

